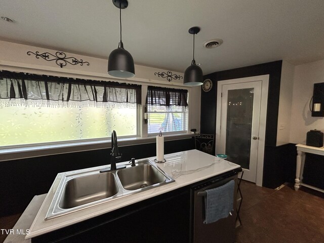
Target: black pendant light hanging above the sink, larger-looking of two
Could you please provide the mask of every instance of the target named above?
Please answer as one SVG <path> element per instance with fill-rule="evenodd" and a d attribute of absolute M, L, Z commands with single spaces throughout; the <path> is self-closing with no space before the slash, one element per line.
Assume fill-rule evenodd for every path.
<path fill-rule="evenodd" d="M 133 57 L 124 49 L 124 44 L 121 42 L 121 9 L 126 9 L 128 2 L 127 0 L 112 0 L 112 3 L 119 9 L 120 42 L 118 48 L 113 50 L 109 55 L 108 74 L 115 77 L 134 77 L 135 67 Z"/>

